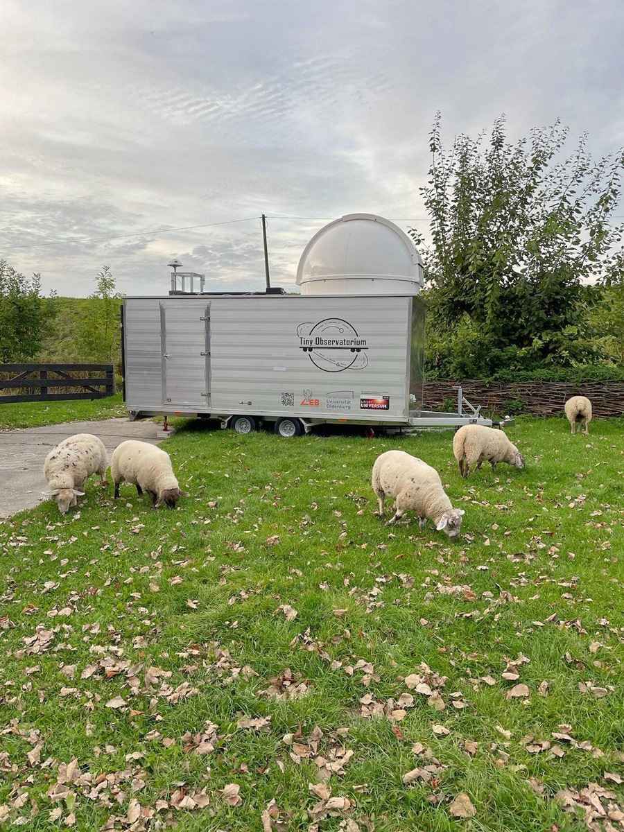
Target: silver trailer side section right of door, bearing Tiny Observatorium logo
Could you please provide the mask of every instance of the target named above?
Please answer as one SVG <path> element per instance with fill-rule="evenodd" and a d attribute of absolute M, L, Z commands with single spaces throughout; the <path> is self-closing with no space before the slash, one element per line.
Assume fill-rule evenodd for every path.
<path fill-rule="evenodd" d="M 409 297 L 213 298 L 213 411 L 407 418 L 409 305 Z"/>

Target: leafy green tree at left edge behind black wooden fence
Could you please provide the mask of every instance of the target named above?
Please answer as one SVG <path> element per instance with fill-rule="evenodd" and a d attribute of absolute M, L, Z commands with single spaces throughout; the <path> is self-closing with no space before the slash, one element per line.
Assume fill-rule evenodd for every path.
<path fill-rule="evenodd" d="M 52 298 L 41 295 L 41 276 L 20 275 L 0 260 L 0 360 L 17 364 L 34 358 L 54 319 Z"/>

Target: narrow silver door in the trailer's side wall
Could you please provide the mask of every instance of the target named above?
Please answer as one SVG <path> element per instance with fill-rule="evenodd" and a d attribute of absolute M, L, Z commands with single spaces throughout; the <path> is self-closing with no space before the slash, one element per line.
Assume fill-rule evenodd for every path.
<path fill-rule="evenodd" d="M 203 298 L 161 300 L 162 404 L 210 406 L 210 304 Z"/>

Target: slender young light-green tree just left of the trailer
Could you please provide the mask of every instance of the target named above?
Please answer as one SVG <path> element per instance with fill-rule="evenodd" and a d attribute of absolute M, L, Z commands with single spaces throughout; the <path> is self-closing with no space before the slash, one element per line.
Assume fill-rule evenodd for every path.
<path fill-rule="evenodd" d="M 120 349 L 119 307 L 122 295 L 116 291 L 116 280 L 105 265 L 98 273 L 97 288 L 89 300 L 87 314 L 77 329 L 85 358 L 106 364 L 116 363 Z"/>

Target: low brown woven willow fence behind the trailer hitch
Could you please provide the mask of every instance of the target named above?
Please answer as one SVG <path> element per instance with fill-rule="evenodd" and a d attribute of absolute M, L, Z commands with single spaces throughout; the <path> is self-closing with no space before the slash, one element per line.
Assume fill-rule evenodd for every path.
<path fill-rule="evenodd" d="M 529 381 L 514 384 L 473 381 L 427 381 L 423 390 L 423 408 L 447 409 L 457 401 L 453 384 L 461 384 L 463 395 L 471 404 L 500 415 L 529 414 L 557 416 L 570 396 L 587 396 L 597 417 L 624 416 L 624 382 L 587 381 L 572 384 L 559 381 Z"/>

